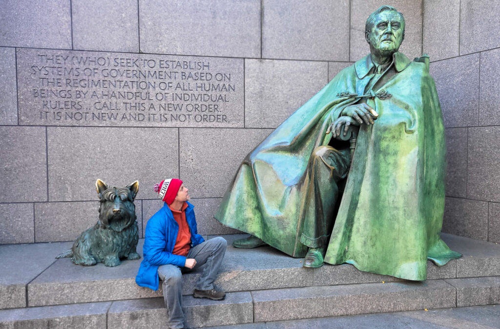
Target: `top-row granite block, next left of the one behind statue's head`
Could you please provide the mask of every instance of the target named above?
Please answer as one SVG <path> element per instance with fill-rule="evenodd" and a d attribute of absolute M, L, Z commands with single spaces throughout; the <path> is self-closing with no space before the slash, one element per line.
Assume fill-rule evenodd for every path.
<path fill-rule="evenodd" d="M 349 1 L 263 0 L 262 10 L 263 58 L 349 60 Z"/>

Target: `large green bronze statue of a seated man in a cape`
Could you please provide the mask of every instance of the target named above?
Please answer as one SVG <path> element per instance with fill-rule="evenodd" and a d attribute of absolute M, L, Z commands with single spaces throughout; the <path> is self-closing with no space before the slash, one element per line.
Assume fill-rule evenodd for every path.
<path fill-rule="evenodd" d="M 243 159 L 214 216 L 252 234 L 234 246 L 410 280 L 425 279 L 427 259 L 461 256 L 440 238 L 445 143 L 429 59 L 398 52 L 404 28 L 392 6 L 371 13 L 370 53 Z"/>

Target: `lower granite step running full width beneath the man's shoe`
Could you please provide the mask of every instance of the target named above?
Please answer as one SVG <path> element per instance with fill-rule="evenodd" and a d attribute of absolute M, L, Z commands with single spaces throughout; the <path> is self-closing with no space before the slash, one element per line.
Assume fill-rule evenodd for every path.
<path fill-rule="evenodd" d="M 221 301 L 183 296 L 189 327 L 498 303 L 500 276 L 393 281 L 229 292 Z M 0 310 L 0 328 L 161 328 L 163 298 Z"/>

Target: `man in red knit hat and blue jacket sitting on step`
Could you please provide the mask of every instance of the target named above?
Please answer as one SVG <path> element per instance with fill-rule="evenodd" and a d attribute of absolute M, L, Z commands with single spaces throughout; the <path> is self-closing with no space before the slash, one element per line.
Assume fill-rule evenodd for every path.
<path fill-rule="evenodd" d="M 157 290 L 158 277 L 163 281 L 163 297 L 170 328 L 182 328 L 182 273 L 200 269 L 193 296 L 213 300 L 223 299 L 225 292 L 216 289 L 213 281 L 224 257 L 227 242 L 222 237 L 207 241 L 197 234 L 193 205 L 180 179 L 165 179 L 154 185 L 165 202 L 149 218 L 144 240 L 144 258 L 135 282 Z"/>

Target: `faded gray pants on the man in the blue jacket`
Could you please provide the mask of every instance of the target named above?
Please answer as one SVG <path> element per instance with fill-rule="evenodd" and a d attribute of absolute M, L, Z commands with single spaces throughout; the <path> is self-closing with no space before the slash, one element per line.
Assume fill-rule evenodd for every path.
<path fill-rule="evenodd" d="M 182 328 L 184 325 L 182 273 L 200 269 L 201 276 L 194 287 L 199 290 L 212 289 L 226 246 L 227 241 L 223 237 L 217 236 L 189 249 L 186 257 L 196 259 L 196 265 L 192 269 L 187 267 L 179 268 L 172 264 L 158 267 L 158 276 L 163 281 L 161 287 L 170 328 Z"/>

